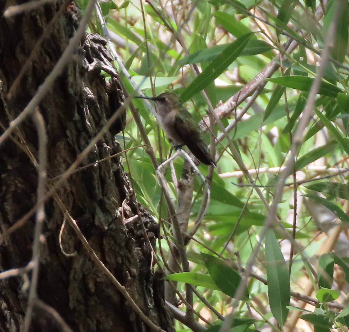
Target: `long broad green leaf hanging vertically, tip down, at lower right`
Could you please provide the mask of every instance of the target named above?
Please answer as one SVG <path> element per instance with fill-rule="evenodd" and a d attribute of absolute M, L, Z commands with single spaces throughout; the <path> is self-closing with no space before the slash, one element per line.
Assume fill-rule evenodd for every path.
<path fill-rule="evenodd" d="M 290 304 L 290 278 L 287 264 L 277 243 L 275 233 L 269 229 L 265 239 L 269 305 L 277 322 L 283 326 Z"/>

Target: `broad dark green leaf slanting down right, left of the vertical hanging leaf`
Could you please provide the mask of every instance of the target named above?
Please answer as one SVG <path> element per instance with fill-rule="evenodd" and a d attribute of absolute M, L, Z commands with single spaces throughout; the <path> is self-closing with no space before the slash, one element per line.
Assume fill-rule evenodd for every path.
<path fill-rule="evenodd" d="M 234 297 L 241 282 L 241 277 L 239 274 L 225 264 L 220 258 L 204 254 L 203 252 L 201 252 L 201 257 L 215 284 L 222 290 L 223 293 L 230 297 Z M 248 298 L 247 289 L 245 291 L 245 298 Z"/>

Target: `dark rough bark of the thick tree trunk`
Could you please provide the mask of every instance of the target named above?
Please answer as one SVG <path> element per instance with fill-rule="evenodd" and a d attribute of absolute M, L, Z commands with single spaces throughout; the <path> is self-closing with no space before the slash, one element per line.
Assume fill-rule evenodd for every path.
<path fill-rule="evenodd" d="M 13 4 L 11 0 L 0 0 L 1 12 Z M 70 4 L 32 59 L 12 98 L 7 98 L 10 86 L 58 8 L 59 4 L 50 4 L 13 18 L 0 18 L 0 124 L 5 128 L 9 118 L 16 118 L 36 93 L 77 27 L 79 14 Z M 39 105 L 49 137 L 47 178 L 51 184 L 54 180 L 50 182 L 50 179 L 66 171 L 121 103 L 118 78 L 106 83 L 98 66 L 108 58 L 104 46 L 101 38 L 86 37 Z M 105 133 L 81 166 L 120 152 L 114 134 L 123 124 L 121 119 Z M 0 146 L 1 232 L 36 202 L 38 176 L 30 153 L 37 158 L 37 133 L 31 119 L 18 129 Z M 163 282 L 151 266 L 152 253 L 141 223 L 147 229 L 153 248 L 157 225 L 137 205 L 120 157 L 74 173 L 57 193 L 98 257 L 126 287 L 141 310 L 162 329 L 173 331 L 172 319 L 163 301 Z M 54 198 L 46 202 L 45 210 L 39 298 L 56 309 L 74 331 L 148 331 L 124 297 L 90 261 L 67 225 L 62 244 L 65 251 L 76 251 L 77 255 L 67 257 L 61 252 L 58 239 L 63 212 Z M 137 215 L 137 210 L 141 211 L 142 220 L 125 224 L 125 219 Z M 34 217 L 30 218 L 0 244 L 1 271 L 28 264 L 34 223 Z M 28 295 L 28 291 L 22 289 L 23 282 L 23 277 L 0 281 L 0 331 L 19 331 L 23 325 Z M 59 330 L 55 325 L 49 315 L 35 309 L 33 331 Z"/>

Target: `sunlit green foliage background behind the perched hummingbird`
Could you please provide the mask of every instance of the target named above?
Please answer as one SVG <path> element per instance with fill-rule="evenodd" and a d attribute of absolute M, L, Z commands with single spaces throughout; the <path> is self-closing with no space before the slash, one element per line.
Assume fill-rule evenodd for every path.
<path fill-rule="evenodd" d="M 339 17 L 335 17 L 338 3 L 341 10 Z M 344 272 L 348 268 L 343 255 L 340 258 L 331 252 L 340 232 L 337 237 L 327 235 L 329 228 L 349 221 L 348 1 L 108 1 L 101 6 L 117 52 L 133 80 L 142 82 L 140 88 L 145 95 L 176 92 L 198 121 L 208 110 L 201 90 L 205 89 L 213 108 L 234 95 L 235 100 L 242 99 L 237 107 L 227 106 L 229 112 L 218 115 L 226 129 L 237 117 L 236 125 L 227 129 L 229 139 L 266 204 L 244 177 L 227 138 L 216 124 L 212 135 L 219 142 L 211 202 L 194 235 L 195 241 L 186 248 L 191 271 L 173 274 L 168 279 L 179 282 L 181 293 L 185 291 L 185 282 L 196 286 L 207 303 L 195 295 L 195 310 L 209 323 L 221 324 L 220 318 L 230 312 L 233 304 L 241 269 L 255 255 L 252 270 L 255 274 L 235 310 L 232 330 L 260 330 L 266 326 L 276 331 L 290 330 L 293 322 L 297 322 L 291 318 L 292 313 L 298 312 L 315 330 L 329 331 L 334 326 L 344 331 L 343 326 L 349 326 L 349 312 L 344 307 L 346 296 L 342 293 L 341 297 L 338 290 L 342 289 L 333 283 L 334 263 Z M 326 35 L 332 22 L 337 23 L 335 38 L 327 45 Z M 90 29 L 101 32 L 97 17 Z M 331 58 L 321 78 L 311 120 L 301 133 L 283 195 L 277 197 L 280 200 L 277 218 L 287 229 L 288 239 L 276 223 L 261 239 L 261 250 L 253 253 L 280 172 L 295 143 L 294 135 L 317 78 L 322 50 L 329 46 Z M 275 70 L 269 77 L 266 68 L 272 65 Z M 199 74 L 195 74 L 196 69 Z M 262 82 L 266 84 L 246 89 L 263 75 Z M 133 95 L 127 78 L 121 77 Z M 253 93 L 255 101 L 242 114 Z M 168 158 L 171 145 L 154 117 L 142 100 L 134 99 L 133 103 L 159 162 Z M 171 226 L 166 222 L 166 207 L 154 167 L 131 115 L 124 135 L 121 141 L 129 149 L 125 168 L 132 175 L 137 198 L 164 225 L 157 258 L 158 264 L 165 268 L 169 242 L 173 241 Z M 183 160 L 174 160 L 178 178 L 182 166 Z M 200 165 L 199 169 L 207 173 L 207 166 Z M 176 198 L 176 185 L 169 172 L 167 179 Z M 189 228 L 202 202 L 201 184 L 198 178 Z M 316 212 L 319 209 L 325 212 Z M 327 224 L 326 228 L 319 216 L 331 219 L 331 227 Z M 319 229 L 326 235 L 320 240 Z M 289 245 L 294 242 L 298 244 L 297 250 L 290 256 Z M 329 253 L 323 251 L 324 247 L 329 248 Z M 348 281 L 349 274 L 344 278 Z M 311 294 L 303 293 L 307 282 L 313 286 Z M 312 304 L 307 307 L 311 313 L 299 308 L 302 301 Z M 337 301 L 338 305 L 330 301 Z M 185 310 L 185 305 L 180 304 L 179 308 Z M 201 320 L 200 323 L 204 324 Z M 184 325 L 176 324 L 177 330 L 185 330 Z"/>

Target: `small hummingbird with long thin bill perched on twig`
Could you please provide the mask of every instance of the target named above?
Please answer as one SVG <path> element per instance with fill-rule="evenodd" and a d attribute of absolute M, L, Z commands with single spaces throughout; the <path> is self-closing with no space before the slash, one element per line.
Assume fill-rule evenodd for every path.
<path fill-rule="evenodd" d="M 216 167 L 216 163 L 208 153 L 203 131 L 193 116 L 184 108 L 176 93 L 163 92 L 156 97 L 137 96 L 136 98 L 154 100 L 159 115 L 159 124 L 176 150 L 186 145 L 201 163 Z"/>

